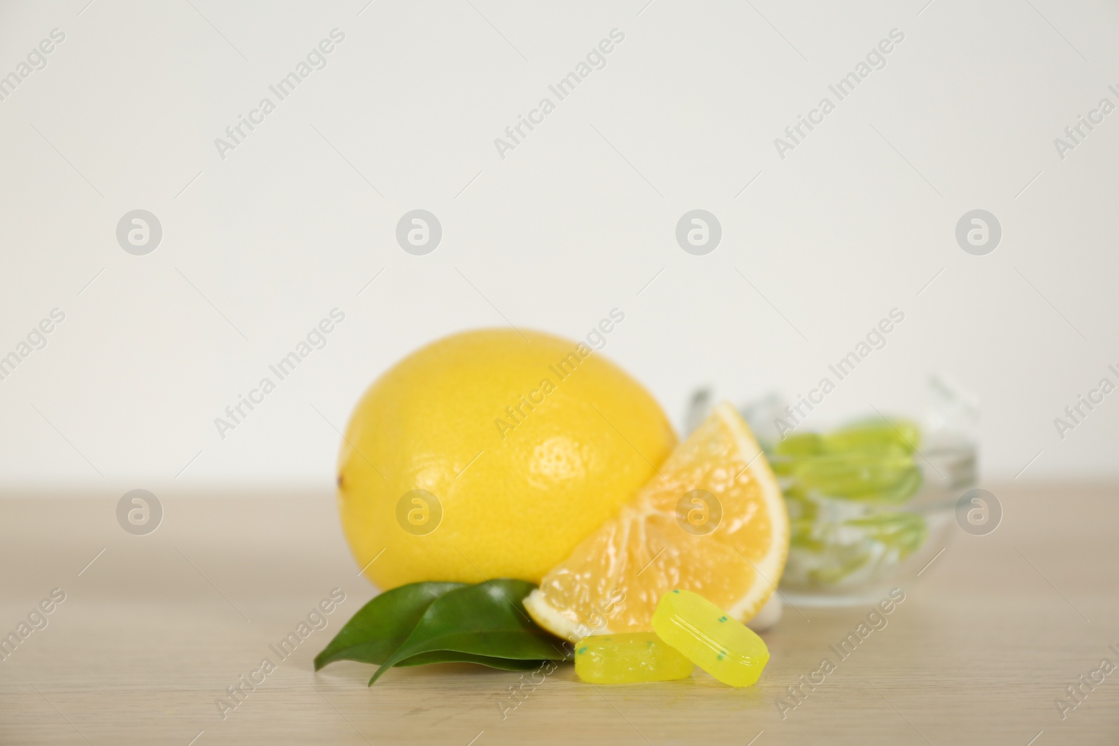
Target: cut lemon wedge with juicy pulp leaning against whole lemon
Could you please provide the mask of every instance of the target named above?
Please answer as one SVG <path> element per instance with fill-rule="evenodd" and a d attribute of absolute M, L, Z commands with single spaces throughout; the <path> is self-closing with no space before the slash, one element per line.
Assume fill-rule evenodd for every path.
<path fill-rule="evenodd" d="M 646 632 L 660 597 L 681 588 L 744 623 L 775 589 L 788 549 L 777 479 L 724 402 L 632 501 L 544 576 L 525 607 L 568 640 Z"/>

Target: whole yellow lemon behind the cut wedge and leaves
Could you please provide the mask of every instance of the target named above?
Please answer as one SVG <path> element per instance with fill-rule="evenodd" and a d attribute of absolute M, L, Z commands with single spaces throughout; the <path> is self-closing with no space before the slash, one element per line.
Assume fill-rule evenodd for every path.
<path fill-rule="evenodd" d="M 382 589 L 538 583 L 675 445 L 649 393 L 584 343 L 452 334 L 396 363 L 354 410 L 339 460 L 342 529 Z"/>

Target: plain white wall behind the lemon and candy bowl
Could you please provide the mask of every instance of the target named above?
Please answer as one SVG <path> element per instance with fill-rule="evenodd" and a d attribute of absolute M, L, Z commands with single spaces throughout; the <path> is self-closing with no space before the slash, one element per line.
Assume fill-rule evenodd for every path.
<path fill-rule="evenodd" d="M 1119 104 L 1119 9 L 925 1 L 3 3 L 0 75 L 66 39 L 0 101 L 0 355 L 66 321 L 0 381 L 0 489 L 329 487 L 335 428 L 408 351 L 507 322 L 581 337 L 614 306 L 604 353 L 677 424 L 698 384 L 806 391 L 896 306 L 819 422 L 919 410 L 942 372 L 981 399 L 985 479 L 1116 476 L 1119 394 L 1063 441 L 1053 419 L 1119 367 L 1119 113 L 1063 160 L 1053 140 Z M 223 160 L 215 138 L 333 28 L 327 67 Z M 137 208 L 163 228 L 147 256 L 115 238 Z M 415 208 L 443 226 L 426 256 L 395 240 Z M 706 256 L 675 239 L 695 208 L 723 226 Z M 1003 226 L 986 256 L 955 239 L 975 208 Z M 329 344 L 222 440 L 335 306 Z"/>

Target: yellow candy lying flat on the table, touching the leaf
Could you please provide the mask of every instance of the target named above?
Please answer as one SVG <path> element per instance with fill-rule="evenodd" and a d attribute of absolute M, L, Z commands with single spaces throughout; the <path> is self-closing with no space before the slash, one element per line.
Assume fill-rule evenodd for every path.
<path fill-rule="evenodd" d="M 652 632 L 596 634 L 575 645 L 575 673 L 591 683 L 687 679 L 694 668 Z"/>

